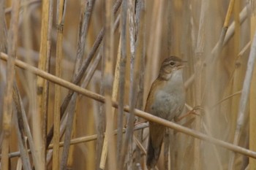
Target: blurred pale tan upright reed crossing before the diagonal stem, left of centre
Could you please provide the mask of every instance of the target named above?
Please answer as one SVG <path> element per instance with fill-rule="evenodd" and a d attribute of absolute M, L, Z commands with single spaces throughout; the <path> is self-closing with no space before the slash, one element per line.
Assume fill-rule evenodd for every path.
<path fill-rule="evenodd" d="M 105 115 L 106 115 L 106 136 L 102 148 L 102 156 L 99 167 L 105 169 L 105 161 L 108 156 L 108 168 L 116 169 L 116 144 L 113 136 L 114 115 L 111 108 L 113 93 L 113 50 L 114 50 L 114 16 L 112 10 L 113 1 L 105 1 L 105 39 L 103 53 L 105 58 L 103 86 L 105 91 Z"/>

